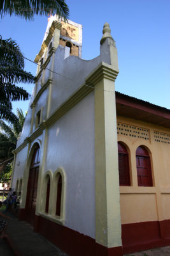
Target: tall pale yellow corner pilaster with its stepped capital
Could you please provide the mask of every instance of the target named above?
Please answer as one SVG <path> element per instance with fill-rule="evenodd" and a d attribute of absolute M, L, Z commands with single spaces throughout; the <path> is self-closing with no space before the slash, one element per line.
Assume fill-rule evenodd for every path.
<path fill-rule="evenodd" d="M 95 86 L 96 243 L 122 246 L 118 179 L 115 78 L 118 72 L 101 63 L 87 83 Z"/>

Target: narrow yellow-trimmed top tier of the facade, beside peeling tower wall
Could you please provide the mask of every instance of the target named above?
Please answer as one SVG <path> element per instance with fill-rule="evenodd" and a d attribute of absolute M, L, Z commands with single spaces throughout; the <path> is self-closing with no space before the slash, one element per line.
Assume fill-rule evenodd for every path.
<path fill-rule="evenodd" d="M 43 44 L 41 45 L 41 50 L 36 55 L 35 62 L 38 63 L 40 58 L 43 56 L 43 53 L 45 51 L 45 48 L 48 47 L 48 44 L 50 44 L 50 41 L 52 40 L 53 32 L 55 29 L 61 29 L 62 24 L 56 20 L 52 22 L 52 26 L 49 29 L 48 36 L 46 36 L 46 39 L 44 40 Z"/>

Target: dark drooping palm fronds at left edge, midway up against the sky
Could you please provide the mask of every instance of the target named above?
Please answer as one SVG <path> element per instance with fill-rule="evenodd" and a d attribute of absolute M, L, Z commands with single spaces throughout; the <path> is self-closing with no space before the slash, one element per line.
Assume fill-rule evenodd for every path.
<path fill-rule="evenodd" d="M 0 118 L 16 121 L 11 100 L 27 100 L 29 93 L 15 83 L 34 83 L 34 76 L 24 70 L 24 56 L 15 41 L 0 40 Z"/>

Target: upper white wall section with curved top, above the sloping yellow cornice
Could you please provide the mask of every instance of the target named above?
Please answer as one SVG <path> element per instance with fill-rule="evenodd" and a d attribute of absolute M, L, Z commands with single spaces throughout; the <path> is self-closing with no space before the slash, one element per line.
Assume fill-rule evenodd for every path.
<path fill-rule="evenodd" d="M 85 78 L 101 62 L 100 56 L 87 61 L 76 56 L 64 59 L 65 48 L 59 45 L 55 52 L 52 100 L 50 115 L 68 99 L 80 86 Z"/>

